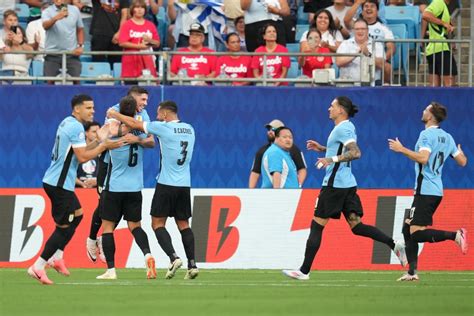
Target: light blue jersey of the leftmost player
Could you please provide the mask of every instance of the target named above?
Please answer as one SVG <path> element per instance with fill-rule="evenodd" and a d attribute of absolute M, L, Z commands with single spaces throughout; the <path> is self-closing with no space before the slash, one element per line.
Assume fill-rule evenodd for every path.
<path fill-rule="evenodd" d="M 66 117 L 56 132 L 51 164 L 43 182 L 54 187 L 74 191 L 79 162 L 73 148 L 86 147 L 84 126 L 75 117 Z"/>

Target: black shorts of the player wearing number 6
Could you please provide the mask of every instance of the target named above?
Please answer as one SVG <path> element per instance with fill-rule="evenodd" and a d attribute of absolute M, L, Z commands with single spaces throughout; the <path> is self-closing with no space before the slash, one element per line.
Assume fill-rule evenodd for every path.
<path fill-rule="evenodd" d="M 142 192 L 102 191 L 100 195 L 99 216 L 107 221 L 118 223 L 123 216 L 127 222 L 142 220 Z"/>

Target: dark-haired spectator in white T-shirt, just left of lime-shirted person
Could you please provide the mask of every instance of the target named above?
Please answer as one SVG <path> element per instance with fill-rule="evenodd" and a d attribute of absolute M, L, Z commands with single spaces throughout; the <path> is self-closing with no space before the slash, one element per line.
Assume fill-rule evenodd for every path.
<path fill-rule="evenodd" d="M 383 1 L 382 1 L 383 2 Z M 360 4 L 360 1 L 357 3 Z M 354 8 L 358 4 L 354 4 L 351 9 L 347 12 L 345 17 L 346 25 L 349 29 L 352 28 L 352 16 L 355 12 Z M 365 0 L 362 4 L 362 15 L 361 17 L 369 25 L 369 37 L 373 40 L 391 40 L 394 39 L 393 33 L 385 24 L 382 23 L 379 17 L 379 1 L 378 0 Z M 395 54 L 395 44 L 393 42 L 385 43 L 385 63 L 384 63 L 384 82 L 390 83 L 392 65 L 390 64 L 392 56 Z"/>

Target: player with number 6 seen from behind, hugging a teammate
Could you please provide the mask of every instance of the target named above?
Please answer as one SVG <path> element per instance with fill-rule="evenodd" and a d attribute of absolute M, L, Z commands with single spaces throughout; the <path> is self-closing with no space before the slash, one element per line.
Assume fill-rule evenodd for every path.
<path fill-rule="evenodd" d="M 120 112 L 131 118 L 135 116 L 137 102 L 132 96 L 120 100 Z M 124 140 L 127 145 L 109 151 L 109 173 L 101 196 L 99 216 L 102 219 L 102 246 L 107 261 L 107 271 L 97 279 L 115 280 L 115 241 L 114 230 L 120 219 L 127 221 L 128 229 L 145 256 L 147 278 L 156 278 L 155 259 L 151 255 L 148 237 L 141 227 L 143 189 L 143 147 L 140 138 L 128 133 Z"/>

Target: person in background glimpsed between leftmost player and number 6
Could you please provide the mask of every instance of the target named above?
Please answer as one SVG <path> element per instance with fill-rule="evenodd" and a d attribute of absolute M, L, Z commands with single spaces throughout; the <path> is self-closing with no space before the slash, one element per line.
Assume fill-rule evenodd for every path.
<path fill-rule="evenodd" d="M 100 124 L 96 121 L 86 122 L 84 130 L 86 132 L 86 144 L 89 145 L 97 139 L 97 131 Z M 76 188 L 95 188 L 97 187 L 97 173 L 99 168 L 99 157 L 80 163 L 77 167 Z"/>

